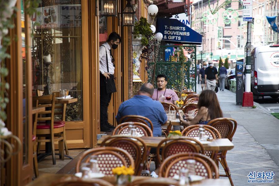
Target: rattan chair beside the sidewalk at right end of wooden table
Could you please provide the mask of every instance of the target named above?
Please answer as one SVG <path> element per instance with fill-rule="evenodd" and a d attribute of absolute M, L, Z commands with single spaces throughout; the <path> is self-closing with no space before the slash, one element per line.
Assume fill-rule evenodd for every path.
<path fill-rule="evenodd" d="M 232 137 L 235 134 L 237 128 L 237 122 L 232 118 L 216 118 L 214 120 L 209 121 L 207 125 L 210 125 L 215 129 L 217 129 L 221 135 L 221 138 L 228 138 L 230 141 L 232 141 Z M 228 177 L 231 185 L 233 186 L 231 172 L 226 160 L 226 154 L 227 151 L 218 152 L 217 164 L 219 161 L 226 173 L 226 175 L 220 175 L 220 176 Z"/>

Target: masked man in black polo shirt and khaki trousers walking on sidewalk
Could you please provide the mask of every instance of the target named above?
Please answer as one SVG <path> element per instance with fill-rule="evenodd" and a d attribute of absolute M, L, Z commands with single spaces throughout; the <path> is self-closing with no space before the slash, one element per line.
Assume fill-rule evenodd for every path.
<path fill-rule="evenodd" d="M 218 81 L 218 71 L 215 66 L 213 66 L 212 61 L 208 62 L 209 67 L 205 69 L 205 84 L 208 90 L 215 91 L 215 87 Z"/>

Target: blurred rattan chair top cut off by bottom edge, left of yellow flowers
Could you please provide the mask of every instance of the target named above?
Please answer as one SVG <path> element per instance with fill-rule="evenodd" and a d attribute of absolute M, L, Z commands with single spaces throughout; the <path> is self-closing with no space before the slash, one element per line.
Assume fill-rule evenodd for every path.
<path fill-rule="evenodd" d="M 52 186 L 113 186 L 110 182 L 103 179 L 90 178 L 83 179 L 76 176 L 62 177 L 61 179 L 53 182 Z"/>

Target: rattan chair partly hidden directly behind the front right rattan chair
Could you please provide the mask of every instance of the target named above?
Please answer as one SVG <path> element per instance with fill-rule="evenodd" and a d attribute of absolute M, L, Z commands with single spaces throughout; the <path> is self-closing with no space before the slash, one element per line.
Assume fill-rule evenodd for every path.
<path fill-rule="evenodd" d="M 193 143 L 194 142 L 194 143 Z M 164 144 L 164 147 L 162 145 Z M 200 150 L 197 148 L 196 144 L 200 146 L 201 153 L 205 154 L 204 146 L 196 139 L 193 138 L 166 138 L 163 139 L 157 147 L 157 161 L 159 165 L 164 161 L 167 157 L 187 152 L 197 152 Z M 162 153 L 160 158 L 160 148 L 162 148 Z"/>

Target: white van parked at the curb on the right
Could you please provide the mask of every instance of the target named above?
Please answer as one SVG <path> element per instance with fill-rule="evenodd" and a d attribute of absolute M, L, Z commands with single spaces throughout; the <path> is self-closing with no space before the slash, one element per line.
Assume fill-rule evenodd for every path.
<path fill-rule="evenodd" d="M 256 47 L 251 53 L 251 92 L 279 97 L 279 45 Z"/>

